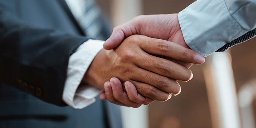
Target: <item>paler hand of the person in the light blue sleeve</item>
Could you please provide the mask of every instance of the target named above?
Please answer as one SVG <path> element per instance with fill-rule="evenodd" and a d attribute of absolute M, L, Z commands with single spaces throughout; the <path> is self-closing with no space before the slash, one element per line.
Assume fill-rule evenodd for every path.
<path fill-rule="evenodd" d="M 185 43 L 182 35 L 182 31 L 178 21 L 178 14 L 138 16 L 127 23 L 124 23 L 120 26 L 115 27 L 113 29 L 112 35 L 104 43 L 103 47 L 105 49 L 113 49 L 118 45 L 120 45 L 123 39 L 133 34 L 140 34 L 140 35 L 146 35 L 152 38 L 164 39 L 167 41 L 175 42 L 176 44 L 184 46 L 185 48 L 189 48 Z M 164 57 L 162 56 L 162 58 L 181 64 L 187 68 L 193 65 L 192 63 L 186 63 L 186 61 L 183 62 L 183 61 L 175 60 L 165 56 Z M 204 62 L 204 58 L 194 58 L 194 59 L 195 61 L 199 61 L 199 63 L 197 64 Z M 112 79 L 119 81 L 117 78 L 112 78 Z M 108 99 L 110 102 L 115 104 L 123 103 L 123 106 L 131 106 L 128 103 L 128 101 L 136 102 L 136 103 L 139 103 L 140 105 L 145 104 L 146 98 L 138 93 L 133 83 L 125 82 L 125 83 L 129 83 L 129 84 L 125 84 L 126 85 L 125 89 L 129 90 L 127 93 L 125 93 L 124 91 L 117 90 L 117 87 L 115 89 L 112 88 L 112 86 L 121 86 L 120 84 L 118 84 L 119 82 L 116 82 L 117 84 L 110 84 L 110 82 L 105 83 L 105 88 L 109 87 L 110 88 L 109 90 L 111 91 L 110 92 L 106 91 L 106 93 L 104 92 L 101 93 L 100 98 L 102 100 Z M 124 97 L 128 97 L 128 99 L 115 98 L 113 94 L 117 94 L 117 93 L 119 93 L 120 95 L 121 94 L 126 95 Z M 124 102 L 128 104 L 124 104 Z"/>

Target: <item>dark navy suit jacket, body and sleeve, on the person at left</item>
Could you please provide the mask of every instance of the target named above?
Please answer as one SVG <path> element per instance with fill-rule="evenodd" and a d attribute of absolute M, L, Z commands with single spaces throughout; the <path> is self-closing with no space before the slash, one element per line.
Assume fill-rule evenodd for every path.
<path fill-rule="evenodd" d="M 62 101 L 68 59 L 87 39 L 64 0 L 0 1 L 0 127 L 121 127 L 109 102 Z"/>

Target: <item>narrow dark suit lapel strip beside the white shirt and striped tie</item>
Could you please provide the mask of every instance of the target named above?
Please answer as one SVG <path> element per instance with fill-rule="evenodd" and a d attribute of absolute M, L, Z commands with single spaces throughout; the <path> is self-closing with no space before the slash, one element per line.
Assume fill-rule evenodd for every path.
<path fill-rule="evenodd" d="M 72 20 L 72 22 L 74 23 L 74 25 L 76 26 L 76 28 L 78 29 L 79 33 L 81 35 L 85 35 L 84 31 L 81 29 L 81 27 L 79 26 L 78 22 L 76 21 L 74 15 L 72 14 L 72 12 L 70 11 L 67 3 L 65 0 L 57 0 L 61 7 L 63 8 L 63 10 L 66 12 L 66 14 L 69 16 L 69 18 Z"/>

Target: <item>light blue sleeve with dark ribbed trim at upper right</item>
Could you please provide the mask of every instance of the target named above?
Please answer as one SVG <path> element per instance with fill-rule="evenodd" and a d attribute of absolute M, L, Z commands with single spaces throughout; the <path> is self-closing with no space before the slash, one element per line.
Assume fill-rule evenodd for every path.
<path fill-rule="evenodd" d="M 208 56 L 255 36 L 256 0 L 197 0 L 178 19 L 187 45 Z"/>

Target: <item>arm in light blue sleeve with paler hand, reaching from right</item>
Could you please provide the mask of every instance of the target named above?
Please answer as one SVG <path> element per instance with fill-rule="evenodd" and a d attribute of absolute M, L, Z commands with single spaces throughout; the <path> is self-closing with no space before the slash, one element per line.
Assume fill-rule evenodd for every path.
<path fill-rule="evenodd" d="M 255 0 L 197 0 L 178 16 L 142 15 L 117 26 L 103 47 L 113 49 L 129 35 L 141 34 L 189 46 L 208 56 L 255 36 L 255 6 Z"/>

